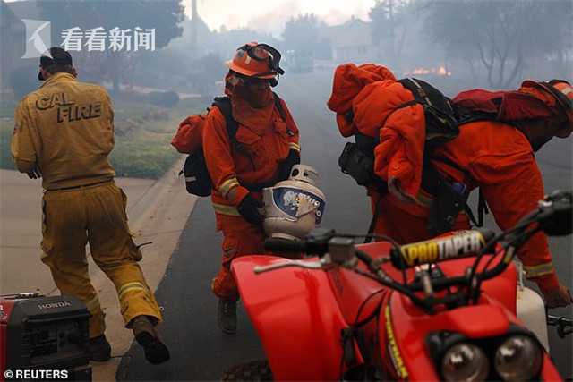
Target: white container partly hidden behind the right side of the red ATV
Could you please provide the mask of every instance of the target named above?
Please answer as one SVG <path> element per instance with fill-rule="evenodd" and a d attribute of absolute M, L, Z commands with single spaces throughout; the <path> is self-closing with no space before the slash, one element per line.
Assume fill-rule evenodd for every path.
<path fill-rule="evenodd" d="M 545 303 L 541 296 L 523 284 L 523 266 L 516 261 L 517 266 L 517 318 L 531 330 L 546 352 L 549 352 L 549 337 L 545 318 Z"/>

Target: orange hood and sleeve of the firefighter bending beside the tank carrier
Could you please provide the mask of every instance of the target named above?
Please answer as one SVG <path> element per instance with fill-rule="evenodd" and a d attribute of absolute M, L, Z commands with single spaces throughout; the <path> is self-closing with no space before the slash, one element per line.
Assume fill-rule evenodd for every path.
<path fill-rule="evenodd" d="M 337 113 L 340 133 L 378 138 L 374 173 L 389 183 L 398 198 L 415 200 L 422 183 L 425 118 L 420 105 L 400 107 L 414 100 L 410 90 L 384 66 L 338 66 L 328 106 Z M 352 111 L 353 118 L 345 115 Z"/>

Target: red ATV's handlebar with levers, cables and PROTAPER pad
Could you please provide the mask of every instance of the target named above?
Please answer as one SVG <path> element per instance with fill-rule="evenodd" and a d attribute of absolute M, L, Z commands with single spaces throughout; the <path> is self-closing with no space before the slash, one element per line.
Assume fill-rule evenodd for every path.
<path fill-rule="evenodd" d="M 539 207 L 524 217 L 514 228 L 498 235 L 494 235 L 491 231 L 466 231 L 449 237 L 403 246 L 398 246 L 389 239 L 393 246 L 390 252 L 391 262 L 394 267 L 402 270 L 449 259 L 475 257 L 474 265 L 469 267 L 464 275 L 460 276 L 432 279 L 426 270 L 421 269 L 418 271 L 420 275 L 418 280 L 406 284 L 405 276 L 404 284 L 400 284 L 384 272 L 380 267 L 380 260 L 374 260 L 367 253 L 355 248 L 354 238 L 357 236 L 335 233 L 334 230 L 324 228 L 315 229 L 304 240 L 291 241 L 270 238 L 265 242 L 266 250 L 303 252 L 318 256 L 321 258 L 319 261 L 307 266 L 306 263 L 308 262 L 298 260 L 261 267 L 255 271 L 261 273 L 277 267 L 317 269 L 336 264 L 373 278 L 399 293 L 406 294 L 416 305 L 426 312 L 432 313 L 434 306 L 438 304 L 455 305 L 477 301 L 481 291 L 480 284 L 484 280 L 500 275 L 509 266 L 517 250 L 539 231 L 544 231 L 549 235 L 565 235 L 573 231 L 572 192 L 553 192 L 552 195 L 540 201 Z M 482 271 L 477 272 L 483 255 L 492 254 L 494 258 L 500 254 L 499 251 L 496 251 L 498 244 L 501 244 L 501 248 L 505 250 L 498 264 L 488 269 L 491 259 Z M 326 256 L 327 254 L 329 256 Z M 362 261 L 368 267 L 369 272 L 364 272 L 355 267 L 356 259 Z M 458 289 L 457 293 L 447 293 L 443 297 L 434 296 L 434 292 L 448 289 L 453 285 L 459 285 L 463 288 Z M 424 292 L 425 297 L 416 294 L 421 291 Z"/>

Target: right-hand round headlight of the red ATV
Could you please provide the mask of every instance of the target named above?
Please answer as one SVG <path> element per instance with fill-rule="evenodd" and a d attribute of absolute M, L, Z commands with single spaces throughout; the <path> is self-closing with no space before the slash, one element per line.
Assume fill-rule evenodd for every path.
<path fill-rule="evenodd" d="M 543 352 L 535 340 L 526 335 L 513 335 L 495 352 L 495 369 L 506 381 L 526 381 L 541 369 Z"/>

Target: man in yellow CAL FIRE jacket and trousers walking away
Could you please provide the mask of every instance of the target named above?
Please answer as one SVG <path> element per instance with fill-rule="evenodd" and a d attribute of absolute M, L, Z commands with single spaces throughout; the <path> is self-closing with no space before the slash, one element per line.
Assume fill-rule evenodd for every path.
<path fill-rule="evenodd" d="M 126 196 L 114 183 L 107 156 L 114 148 L 114 112 L 106 89 L 76 80 L 72 56 L 52 47 L 40 57 L 40 88 L 16 108 L 12 155 L 18 170 L 42 177 L 42 261 L 63 294 L 90 310 L 93 361 L 107 361 L 104 313 L 90 283 L 91 256 L 115 284 L 125 326 L 152 363 L 169 359 L 155 326 L 161 313 L 137 261 L 125 213 Z"/>

